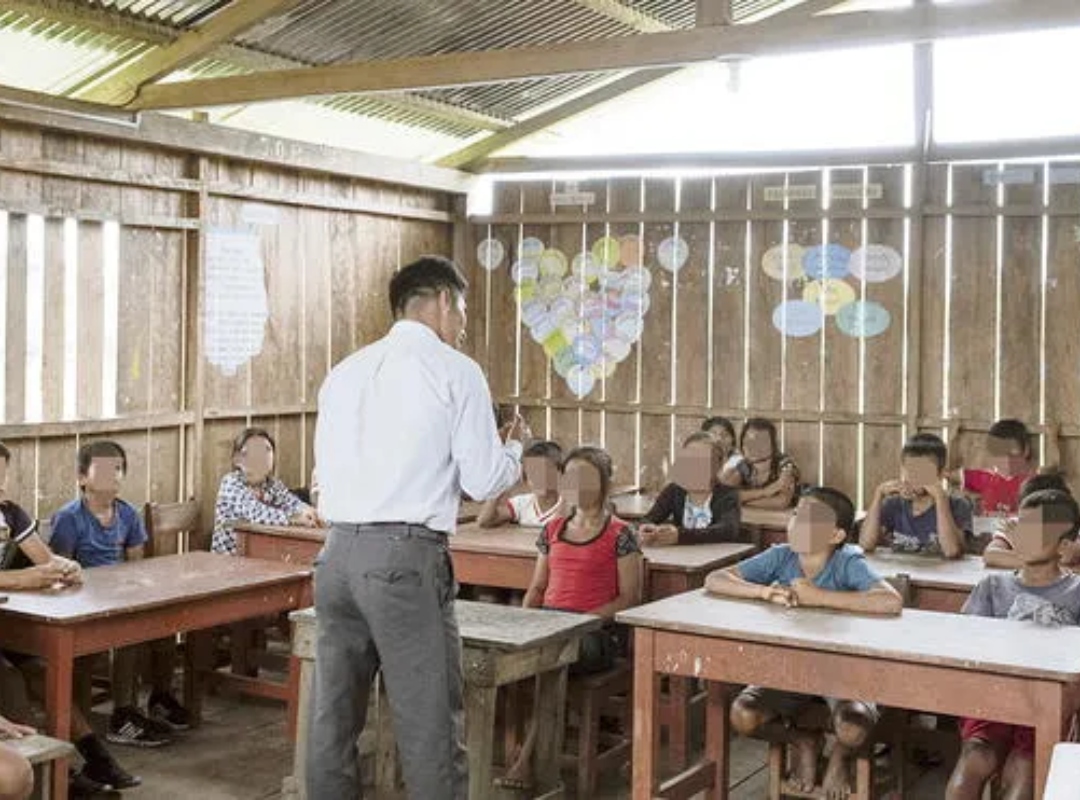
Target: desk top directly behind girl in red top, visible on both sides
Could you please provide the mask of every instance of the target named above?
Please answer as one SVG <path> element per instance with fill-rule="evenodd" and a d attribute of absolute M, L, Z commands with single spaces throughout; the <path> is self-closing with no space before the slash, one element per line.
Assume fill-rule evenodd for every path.
<path fill-rule="evenodd" d="M 539 528 L 507 526 L 481 528 L 462 525 L 450 537 L 450 551 L 489 553 L 491 555 L 528 556 L 537 554 Z M 700 572 L 733 564 L 754 554 L 753 544 L 721 542 L 718 544 L 678 544 L 671 547 L 643 547 L 651 569 L 673 572 Z"/>

